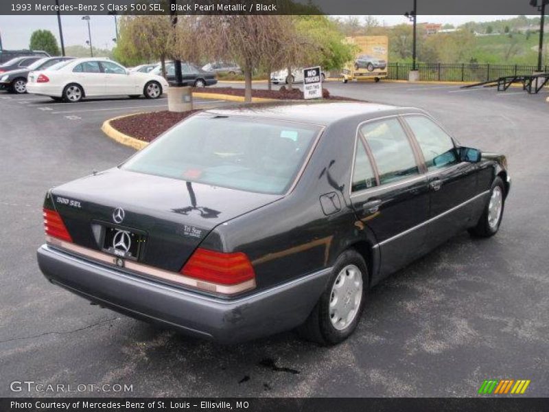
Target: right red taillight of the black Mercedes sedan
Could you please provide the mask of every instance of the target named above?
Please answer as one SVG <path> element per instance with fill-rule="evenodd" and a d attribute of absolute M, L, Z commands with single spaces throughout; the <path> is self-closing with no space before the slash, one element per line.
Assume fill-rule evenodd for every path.
<path fill-rule="evenodd" d="M 198 248 L 180 273 L 213 284 L 237 285 L 249 282 L 255 285 L 255 271 L 248 256 L 242 252 L 222 253 Z"/>

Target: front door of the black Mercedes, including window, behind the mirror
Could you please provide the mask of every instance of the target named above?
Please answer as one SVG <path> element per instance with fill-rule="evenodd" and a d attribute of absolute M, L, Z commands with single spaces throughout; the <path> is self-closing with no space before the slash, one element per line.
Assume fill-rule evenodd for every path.
<path fill-rule="evenodd" d="M 436 247 L 471 226 L 477 168 L 474 163 L 460 161 L 454 140 L 432 119 L 421 114 L 406 115 L 404 119 L 428 172 L 428 242 L 430 247 Z"/>

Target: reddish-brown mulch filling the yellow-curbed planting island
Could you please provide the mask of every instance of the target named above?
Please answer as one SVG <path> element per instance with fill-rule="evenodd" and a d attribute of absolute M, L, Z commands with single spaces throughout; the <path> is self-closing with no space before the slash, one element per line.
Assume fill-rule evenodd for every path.
<path fill-rule="evenodd" d="M 195 93 L 220 93 L 244 97 L 244 89 L 233 89 L 232 87 L 211 87 L 196 88 Z M 279 90 L 253 90 L 252 97 L 268 98 L 277 100 L 303 100 L 303 92 L 299 89 L 288 90 L 285 86 Z M 325 100 L 354 100 L 331 96 L 327 89 L 323 89 Z M 192 110 L 183 113 L 172 113 L 169 111 L 158 111 L 152 113 L 141 113 L 133 116 L 122 117 L 110 122 L 110 126 L 119 130 L 125 135 L 135 137 L 143 141 L 152 141 L 161 133 L 174 126 L 174 124 L 185 119 L 199 110 Z"/>

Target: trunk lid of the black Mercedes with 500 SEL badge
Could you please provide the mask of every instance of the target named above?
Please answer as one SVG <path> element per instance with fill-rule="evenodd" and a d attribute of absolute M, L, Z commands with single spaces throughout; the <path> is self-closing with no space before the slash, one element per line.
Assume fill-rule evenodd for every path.
<path fill-rule="evenodd" d="M 56 187 L 51 196 L 73 243 L 167 271 L 179 271 L 216 226 L 281 198 L 119 168 Z"/>

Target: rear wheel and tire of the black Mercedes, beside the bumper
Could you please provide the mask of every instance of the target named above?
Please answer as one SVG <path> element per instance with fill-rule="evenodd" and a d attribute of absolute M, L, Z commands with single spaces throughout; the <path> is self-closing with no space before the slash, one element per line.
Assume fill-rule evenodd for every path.
<path fill-rule="evenodd" d="M 354 332 L 369 288 L 368 269 L 362 255 L 353 249 L 336 260 L 324 293 L 300 334 L 321 345 L 336 345 Z"/>

